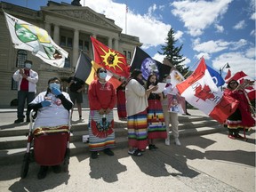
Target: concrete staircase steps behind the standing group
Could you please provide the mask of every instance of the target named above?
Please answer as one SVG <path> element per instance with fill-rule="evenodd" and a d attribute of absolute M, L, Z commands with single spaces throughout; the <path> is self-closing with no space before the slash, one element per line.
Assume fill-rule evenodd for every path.
<path fill-rule="evenodd" d="M 188 110 L 192 116 L 179 116 L 180 121 L 180 141 L 182 144 L 182 137 L 192 135 L 204 135 L 214 132 L 225 132 L 221 126 L 212 118 L 204 116 L 198 110 Z M 74 114 L 77 111 L 74 111 Z M 83 115 L 88 117 L 89 110 L 83 111 Z M 116 132 L 116 148 L 127 147 L 127 125 L 126 121 L 120 121 L 117 117 L 117 112 L 114 110 L 115 118 L 115 132 Z M 21 164 L 22 158 L 26 152 L 28 137 L 28 123 L 20 124 L 5 124 L 0 126 L 0 165 L 1 164 Z M 81 153 L 88 153 L 88 143 L 82 142 L 83 135 L 88 134 L 88 119 L 84 122 L 72 121 L 71 127 L 71 142 L 70 142 L 70 156 L 76 156 Z M 172 132 L 171 142 L 172 142 Z M 164 142 L 164 140 L 157 140 L 157 142 Z M 172 148 L 173 142 L 170 146 Z"/>

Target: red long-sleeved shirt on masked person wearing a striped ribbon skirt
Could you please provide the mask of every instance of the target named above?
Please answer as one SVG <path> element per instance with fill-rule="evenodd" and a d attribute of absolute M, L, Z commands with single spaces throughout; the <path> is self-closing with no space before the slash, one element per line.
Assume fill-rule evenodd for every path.
<path fill-rule="evenodd" d="M 116 90 L 109 82 L 100 84 L 99 80 L 94 80 L 89 86 L 88 99 L 91 110 L 112 109 L 116 105 Z"/>

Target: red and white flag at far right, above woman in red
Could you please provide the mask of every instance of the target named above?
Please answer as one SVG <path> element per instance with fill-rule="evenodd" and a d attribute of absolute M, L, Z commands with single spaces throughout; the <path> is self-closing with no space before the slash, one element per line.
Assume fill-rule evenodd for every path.
<path fill-rule="evenodd" d="M 239 84 L 243 84 L 244 80 L 247 79 L 251 82 L 250 86 L 247 86 L 244 91 L 247 93 L 249 100 L 254 100 L 255 99 L 255 80 L 251 76 L 247 76 L 244 71 L 239 71 L 237 72 L 234 76 L 231 76 L 230 72 L 230 77 L 227 78 L 226 83 L 228 84 L 231 80 L 236 80 Z"/>

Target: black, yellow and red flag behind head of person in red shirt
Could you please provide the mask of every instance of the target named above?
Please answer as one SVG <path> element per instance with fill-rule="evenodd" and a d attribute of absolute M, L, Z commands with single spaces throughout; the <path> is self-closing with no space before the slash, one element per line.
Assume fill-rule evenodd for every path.
<path fill-rule="evenodd" d="M 91 84 L 94 79 L 97 79 L 96 71 L 101 68 L 99 64 L 89 58 L 84 52 L 80 52 L 76 63 L 75 77 L 83 80 L 86 84 Z M 112 73 L 107 70 L 106 81 L 111 82 L 115 88 L 122 84 Z"/>

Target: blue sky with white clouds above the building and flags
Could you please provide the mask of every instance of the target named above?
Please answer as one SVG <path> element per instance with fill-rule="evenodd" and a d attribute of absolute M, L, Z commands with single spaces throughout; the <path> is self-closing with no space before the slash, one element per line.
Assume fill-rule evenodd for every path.
<path fill-rule="evenodd" d="M 39 10 L 47 0 L 5 0 L 5 2 Z M 70 4 L 71 0 L 55 0 Z M 162 61 L 160 45 L 170 28 L 183 44 L 184 65 L 195 69 L 204 55 L 206 64 L 217 71 L 226 63 L 232 75 L 243 70 L 255 78 L 255 1 L 254 0 L 81 0 L 95 12 L 104 13 L 123 28 L 123 33 L 139 36 L 142 49 Z M 125 27 L 125 4 L 127 28 Z M 223 69 L 223 77 L 227 73 Z"/>

